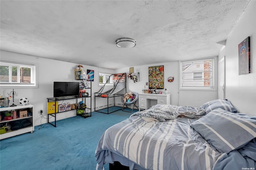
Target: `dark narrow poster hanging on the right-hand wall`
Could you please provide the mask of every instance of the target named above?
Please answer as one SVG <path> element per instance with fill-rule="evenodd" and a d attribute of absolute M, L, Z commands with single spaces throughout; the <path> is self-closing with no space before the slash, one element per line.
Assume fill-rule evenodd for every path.
<path fill-rule="evenodd" d="M 250 62 L 250 37 L 238 44 L 238 74 L 248 74 L 251 72 Z"/>

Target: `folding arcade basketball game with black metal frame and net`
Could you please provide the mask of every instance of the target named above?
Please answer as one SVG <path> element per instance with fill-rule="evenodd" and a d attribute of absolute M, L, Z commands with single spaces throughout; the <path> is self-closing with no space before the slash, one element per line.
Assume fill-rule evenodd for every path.
<path fill-rule="evenodd" d="M 119 97 L 119 96 L 123 96 L 124 94 L 118 94 L 119 91 L 121 91 L 122 89 L 125 89 L 125 93 L 126 93 L 126 73 L 120 73 L 120 74 L 112 74 L 110 75 L 110 77 L 108 78 L 108 80 L 106 82 L 109 82 L 110 79 L 113 79 L 114 81 L 114 88 L 108 90 L 108 91 L 105 91 L 105 92 L 102 92 L 104 91 L 105 87 L 106 87 L 106 84 L 104 84 L 104 86 L 102 86 L 100 88 L 100 90 L 96 93 L 94 93 L 94 111 L 96 112 L 100 112 L 100 113 L 105 113 L 105 114 L 110 114 L 110 113 L 113 113 L 115 111 L 119 111 L 119 110 L 122 110 L 122 107 L 120 107 L 120 109 L 118 110 L 115 110 L 115 111 L 109 111 L 109 108 L 111 107 L 115 107 L 115 98 L 116 97 Z M 99 110 L 96 110 L 96 97 L 101 97 L 101 98 L 106 98 L 107 99 L 107 108 L 104 108 L 104 109 L 107 109 L 107 113 L 106 112 L 103 112 L 102 110 L 103 109 L 99 109 Z M 111 106 L 109 107 L 109 98 L 114 98 L 114 106 Z"/>

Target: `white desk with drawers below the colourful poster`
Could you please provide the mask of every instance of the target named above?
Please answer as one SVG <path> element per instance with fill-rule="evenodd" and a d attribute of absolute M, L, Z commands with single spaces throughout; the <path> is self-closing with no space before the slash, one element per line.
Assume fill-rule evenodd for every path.
<path fill-rule="evenodd" d="M 154 93 L 141 93 L 139 94 L 139 111 L 140 109 L 148 109 L 156 104 L 170 105 L 171 94 L 154 94 Z"/>

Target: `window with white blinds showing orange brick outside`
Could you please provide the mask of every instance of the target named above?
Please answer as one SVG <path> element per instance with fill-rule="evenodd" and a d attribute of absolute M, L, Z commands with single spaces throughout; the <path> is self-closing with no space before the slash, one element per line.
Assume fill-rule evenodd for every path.
<path fill-rule="evenodd" d="M 180 89 L 214 89 L 214 58 L 180 61 Z"/>

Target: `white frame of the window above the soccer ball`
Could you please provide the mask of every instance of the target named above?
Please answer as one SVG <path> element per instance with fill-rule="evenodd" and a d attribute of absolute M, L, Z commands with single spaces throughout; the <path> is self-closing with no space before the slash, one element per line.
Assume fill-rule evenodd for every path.
<path fill-rule="evenodd" d="M 0 65 L 2 63 L 6 63 L 6 65 L 12 65 L 15 67 L 29 67 L 31 68 L 31 81 L 32 83 L 11 83 L 11 82 L 0 82 L 0 87 L 5 89 L 10 88 L 38 88 L 38 64 L 37 63 L 21 63 L 21 62 L 13 62 L 13 61 L 0 61 Z M 10 70 L 9 70 L 10 72 Z M 19 76 L 20 71 L 17 71 L 17 77 Z M 18 78 L 19 79 L 19 78 Z"/>

